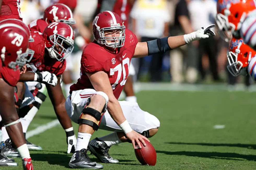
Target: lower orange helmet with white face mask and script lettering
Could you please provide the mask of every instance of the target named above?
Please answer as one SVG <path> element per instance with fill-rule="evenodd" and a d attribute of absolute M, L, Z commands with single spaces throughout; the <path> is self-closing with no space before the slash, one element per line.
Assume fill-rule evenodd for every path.
<path fill-rule="evenodd" d="M 227 54 L 229 72 L 233 76 L 246 73 L 247 66 L 255 54 L 256 51 L 246 45 L 243 39 L 233 38 L 229 43 L 229 52 Z"/>

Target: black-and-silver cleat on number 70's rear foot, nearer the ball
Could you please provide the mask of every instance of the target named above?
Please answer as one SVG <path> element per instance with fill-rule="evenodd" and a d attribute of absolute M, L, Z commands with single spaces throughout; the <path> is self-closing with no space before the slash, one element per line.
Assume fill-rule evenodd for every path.
<path fill-rule="evenodd" d="M 88 144 L 90 151 L 103 163 L 118 163 L 117 159 L 113 159 L 108 154 L 110 147 L 104 141 L 99 140 L 97 137 L 91 140 Z"/>

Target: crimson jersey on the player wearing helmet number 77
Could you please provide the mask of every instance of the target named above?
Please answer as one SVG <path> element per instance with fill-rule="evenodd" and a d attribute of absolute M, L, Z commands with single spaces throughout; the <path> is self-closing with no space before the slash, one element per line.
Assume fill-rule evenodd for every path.
<path fill-rule="evenodd" d="M 60 62 L 56 59 L 46 57 L 45 52 L 45 40 L 42 33 L 37 31 L 31 31 L 31 36 L 34 42 L 29 43 L 29 49 L 34 50 L 33 58 L 30 61 L 30 65 L 27 65 L 28 71 L 48 71 L 54 73 L 56 76 L 60 76 L 66 69 L 66 60 Z"/>

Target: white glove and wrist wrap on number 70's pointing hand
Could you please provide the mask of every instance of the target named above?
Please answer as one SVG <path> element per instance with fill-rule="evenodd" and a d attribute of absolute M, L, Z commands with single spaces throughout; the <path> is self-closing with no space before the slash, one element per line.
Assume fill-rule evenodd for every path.
<path fill-rule="evenodd" d="M 215 27 L 215 24 L 212 24 L 208 27 L 202 27 L 193 33 L 185 34 L 184 41 L 188 44 L 191 41 L 196 41 L 203 38 L 209 38 L 209 36 L 215 36 L 215 33 L 213 32 L 213 30 L 211 30 L 211 28 L 213 27 Z"/>

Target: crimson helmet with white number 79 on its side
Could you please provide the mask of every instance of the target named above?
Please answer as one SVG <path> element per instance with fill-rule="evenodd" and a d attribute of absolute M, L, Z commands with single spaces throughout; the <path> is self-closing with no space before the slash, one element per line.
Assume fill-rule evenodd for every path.
<path fill-rule="evenodd" d="M 16 70 L 26 64 L 29 35 L 21 26 L 13 23 L 0 24 L 0 50 L 3 66 Z"/>

